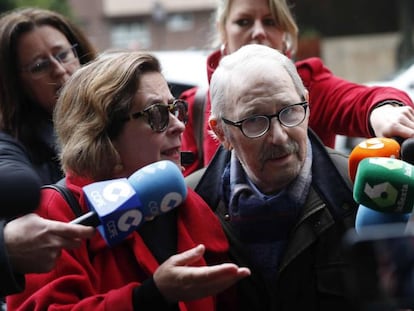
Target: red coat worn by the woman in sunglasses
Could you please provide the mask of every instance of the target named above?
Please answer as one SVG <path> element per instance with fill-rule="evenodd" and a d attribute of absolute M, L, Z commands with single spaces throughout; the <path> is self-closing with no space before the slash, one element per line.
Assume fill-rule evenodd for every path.
<path fill-rule="evenodd" d="M 73 185 L 68 186 L 75 189 Z M 75 195 L 81 195 L 79 202 L 82 203 L 81 189 L 76 189 Z M 206 259 L 222 262 L 227 258 L 228 243 L 220 222 L 194 191 L 188 189 L 188 192 L 188 199 L 179 209 L 182 215 L 177 220 L 177 247 L 183 251 L 203 243 Z M 60 194 L 51 189 L 42 190 L 37 212 L 43 217 L 61 221 L 74 217 Z M 199 265 L 205 265 L 205 261 L 200 260 Z M 63 250 L 51 272 L 28 274 L 25 291 L 7 297 L 8 309 L 133 311 L 134 289 L 148 280 L 158 266 L 137 232 L 110 248 L 97 231 L 79 248 Z M 213 310 L 214 299 L 204 297 L 180 302 L 179 309 Z"/>

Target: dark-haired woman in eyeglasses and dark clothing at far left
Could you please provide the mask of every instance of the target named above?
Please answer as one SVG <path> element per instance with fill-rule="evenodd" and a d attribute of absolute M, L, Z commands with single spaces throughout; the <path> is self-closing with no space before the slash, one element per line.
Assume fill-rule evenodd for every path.
<path fill-rule="evenodd" d="M 0 18 L 0 129 L 26 148 L 44 184 L 62 178 L 52 123 L 58 93 L 95 56 L 82 31 L 58 13 L 25 8 Z"/>

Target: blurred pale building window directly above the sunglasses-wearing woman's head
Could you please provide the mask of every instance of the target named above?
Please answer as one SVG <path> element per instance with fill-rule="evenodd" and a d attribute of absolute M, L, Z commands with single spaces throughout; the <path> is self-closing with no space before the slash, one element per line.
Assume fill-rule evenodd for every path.
<path fill-rule="evenodd" d="M 144 23 L 119 23 L 111 26 L 111 43 L 114 48 L 147 49 L 151 37 Z"/>

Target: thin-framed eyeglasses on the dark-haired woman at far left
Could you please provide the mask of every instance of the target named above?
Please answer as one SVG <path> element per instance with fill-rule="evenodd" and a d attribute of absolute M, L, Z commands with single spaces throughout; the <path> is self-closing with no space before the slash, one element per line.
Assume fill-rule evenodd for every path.
<path fill-rule="evenodd" d="M 77 45 L 78 44 L 74 44 L 69 48 L 63 49 L 59 51 L 58 53 L 56 53 L 55 55 L 52 55 L 52 57 L 57 62 L 59 62 L 59 64 L 62 64 L 62 65 L 71 64 L 74 61 L 78 60 L 78 54 L 76 53 Z M 53 68 L 52 59 L 49 57 L 49 58 L 39 59 L 32 64 L 24 66 L 21 70 L 23 72 L 29 73 L 33 79 L 38 79 L 50 73 L 52 68 Z"/>

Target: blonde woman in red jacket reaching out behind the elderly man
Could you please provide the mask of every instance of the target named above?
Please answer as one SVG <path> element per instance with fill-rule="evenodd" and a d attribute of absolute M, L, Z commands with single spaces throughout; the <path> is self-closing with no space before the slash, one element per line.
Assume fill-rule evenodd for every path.
<path fill-rule="evenodd" d="M 208 57 L 209 81 L 220 59 L 246 44 L 263 44 L 291 58 L 294 56 L 298 27 L 286 0 L 220 0 L 216 24 L 216 43 L 221 44 L 221 48 Z M 341 79 L 333 75 L 319 58 L 299 61 L 296 67 L 310 93 L 312 113 L 309 126 L 326 146 L 334 147 L 336 134 L 355 137 L 414 136 L 413 103 L 406 93 L 390 87 L 367 87 Z M 198 136 L 194 134 L 196 126 L 193 116 L 196 91 L 197 88 L 193 88 L 180 96 L 189 104 L 189 121 L 182 147 L 194 155 L 194 161 L 185 166 L 185 175 L 208 164 L 219 145 L 209 133 L 210 96 L 206 91 L 203 158 L 198 158 Z"/>

